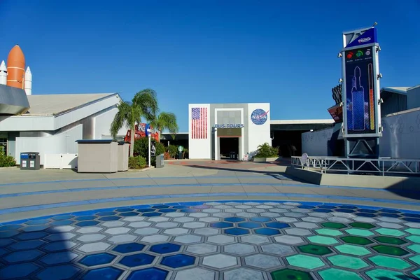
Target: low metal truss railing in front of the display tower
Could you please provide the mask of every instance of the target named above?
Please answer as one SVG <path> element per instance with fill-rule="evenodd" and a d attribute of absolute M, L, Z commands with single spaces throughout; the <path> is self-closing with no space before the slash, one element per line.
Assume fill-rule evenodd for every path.
<path fill-rule="evenodd" d="M 347 174 L 420 174 L 420 160 L 402 158 L 338 158 L 338 157 L 311 157 L 305 162 L 302 157 L 292 157 L 292 166 L 302 169 L 308 168 L 321 173 L 343 172 Z"/>

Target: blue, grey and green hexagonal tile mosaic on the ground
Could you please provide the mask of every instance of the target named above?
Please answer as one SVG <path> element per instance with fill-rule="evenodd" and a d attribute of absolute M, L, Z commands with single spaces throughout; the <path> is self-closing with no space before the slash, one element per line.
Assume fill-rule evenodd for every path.
<path fill-rule="evenodd" d="M 419 279 L 420 214 L 188 202 L 0 224 L 0 279 Z"/>

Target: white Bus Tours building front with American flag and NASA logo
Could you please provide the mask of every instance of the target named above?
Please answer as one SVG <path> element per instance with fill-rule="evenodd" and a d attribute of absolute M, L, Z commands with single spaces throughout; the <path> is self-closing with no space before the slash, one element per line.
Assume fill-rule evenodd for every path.
<path fill-rule="evenodd" d="M 190 159 L 241 160 L 271 145 L 269 103 L 189 104 Z"/>

